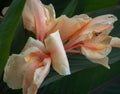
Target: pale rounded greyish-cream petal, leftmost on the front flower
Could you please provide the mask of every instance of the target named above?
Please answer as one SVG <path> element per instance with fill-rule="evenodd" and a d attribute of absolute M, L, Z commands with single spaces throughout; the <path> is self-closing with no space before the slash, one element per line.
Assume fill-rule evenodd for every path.
<path fill-rule="evenodd" d="M 3 80 L 12 89 L 22 88 L 23 74 L 26 62 L 22 55 L 13 54 L 9 57 L 4 69 Z"/>

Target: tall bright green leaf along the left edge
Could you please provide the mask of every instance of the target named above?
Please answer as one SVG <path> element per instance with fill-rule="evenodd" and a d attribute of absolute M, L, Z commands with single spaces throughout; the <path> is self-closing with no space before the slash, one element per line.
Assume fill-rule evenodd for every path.
<path fill-rule="evenodd" d="M 14 0 L 0 24 L 0 76 L 9 56 L 11 42 L 21 17 L 25 0 Z"/>

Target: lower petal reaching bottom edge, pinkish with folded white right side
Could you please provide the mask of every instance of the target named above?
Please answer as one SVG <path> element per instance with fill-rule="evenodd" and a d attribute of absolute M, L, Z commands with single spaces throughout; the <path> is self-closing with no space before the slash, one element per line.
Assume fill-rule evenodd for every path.
<path fill-rule="evenodd" d="M 46 58 L 42 62 L 39 62 L 37 59 L 31 61 L 24 74 L 23 94 L 37 93 L 37 89 L 49 73 L 50 64 L 50 58 Z"/>

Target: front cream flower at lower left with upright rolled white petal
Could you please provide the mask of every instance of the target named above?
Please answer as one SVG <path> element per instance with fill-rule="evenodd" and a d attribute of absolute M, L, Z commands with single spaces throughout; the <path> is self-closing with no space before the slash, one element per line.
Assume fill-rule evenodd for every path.
<path fill-rule="evenodd" d="M 20 54 L 9 57 L 4 69 L 4 81 L 12 89 L 23 88 L 23 94 L 36 94 L 51 64 L 60 75 L 70 74 L 58 31 L 46 37 L 44 44 L 29 38 Z"/>

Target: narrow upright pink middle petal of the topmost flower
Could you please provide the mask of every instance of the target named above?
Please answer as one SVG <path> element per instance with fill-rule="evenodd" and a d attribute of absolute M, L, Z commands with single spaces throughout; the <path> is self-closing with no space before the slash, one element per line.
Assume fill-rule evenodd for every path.
<path fill-rule="evenodd" d="M 40 5 L 36 8 L 37 11 L 35 11 L 35 34 L 37 36 L 37 39 L 43 41 L 47 32 L 48 32 L 48 27 L 49 27 L 49 24 L 47 24 L 47 18 L 46 17 L 46 14 L 45 14 L 45 7 L 44 5 L 39 1 L 37 0 L 38 2 L 37 3 L 40 3 Z M 49 10 L 47 10 L 48 13 L 49 13 Z M 41 28 L 40 28 L 41 27 Z"/>

